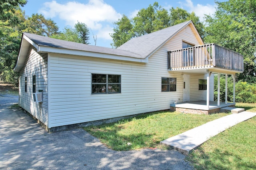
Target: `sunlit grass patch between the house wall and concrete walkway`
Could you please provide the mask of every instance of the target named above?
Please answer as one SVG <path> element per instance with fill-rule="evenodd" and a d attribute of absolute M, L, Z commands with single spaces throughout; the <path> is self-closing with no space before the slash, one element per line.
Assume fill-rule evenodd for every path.
<path fill-rule="evenodd" d="M 114 150 L 136 150 L 146 147 L 161 149 L 160 141 L 225 115 L 227 113 L 197 115 L 161 111 L 123 119 L 116 123 L 84 127 L 84 130 Z"/>

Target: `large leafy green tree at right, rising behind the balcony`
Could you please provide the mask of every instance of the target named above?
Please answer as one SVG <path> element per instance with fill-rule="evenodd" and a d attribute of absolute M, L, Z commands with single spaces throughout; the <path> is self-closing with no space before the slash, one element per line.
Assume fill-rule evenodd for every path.
<path fill-rule="evenodd" d="M 256 81 L 256 1 L 216 2 L 213 17 L 206 16 L 206 43 L 217 43 L 244 55 L 244 72 L 238 80 Z"/>

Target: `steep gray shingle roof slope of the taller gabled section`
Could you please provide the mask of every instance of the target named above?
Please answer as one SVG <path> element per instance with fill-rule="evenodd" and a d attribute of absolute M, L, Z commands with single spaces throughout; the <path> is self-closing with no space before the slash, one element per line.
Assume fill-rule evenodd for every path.
<path fill-rule="evenodd" d="M 186 21 L 172 27 L 136 37 L 127 41 L 117 49 L 132 51 L 141 55 L 142 58 L 146 58 L 190 22 L 192 21 Z"/>

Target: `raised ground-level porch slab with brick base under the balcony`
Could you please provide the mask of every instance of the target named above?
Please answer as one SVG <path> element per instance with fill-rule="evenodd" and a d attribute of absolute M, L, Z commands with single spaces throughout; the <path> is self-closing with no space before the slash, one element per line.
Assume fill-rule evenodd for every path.
<path fill-rule="evenodd" d="M 218 106 L 219 105 L 219 106 Z M 228 102 L 218 102 L 210 101 L 209 106 L 207 106 L 207 101 L 200 100 L 196 102 L 183 102 L 179 104 L 170 104 L 170 110 L 179 111 L 185 113 L 195 113 L 195 114 L 211 114 L 220 112 L 223 107 L 235 107 L 235 103 Z"/>

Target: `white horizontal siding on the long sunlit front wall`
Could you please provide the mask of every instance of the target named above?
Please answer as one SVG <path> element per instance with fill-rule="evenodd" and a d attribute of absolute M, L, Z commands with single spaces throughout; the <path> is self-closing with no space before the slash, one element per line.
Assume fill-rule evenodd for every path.
<path fill-rule="evenodd" d="M 198 45 L 184 28 L 146 64 L 49 54 L 48 127 L 170 109 L 174 101 L 182 102 L 182 73 L 167 69 L 167 51 L 181 49 L 182 40 Z M 120 74 L 122 93 L 91 94 L 92 73 Z M 206 99 L 206 91 L 198 90 L 198 79 L 204 76 L 191 75 L 191 100 Z M 161 92 L 162 77 L 177 78 L 176 92 Z"/>

